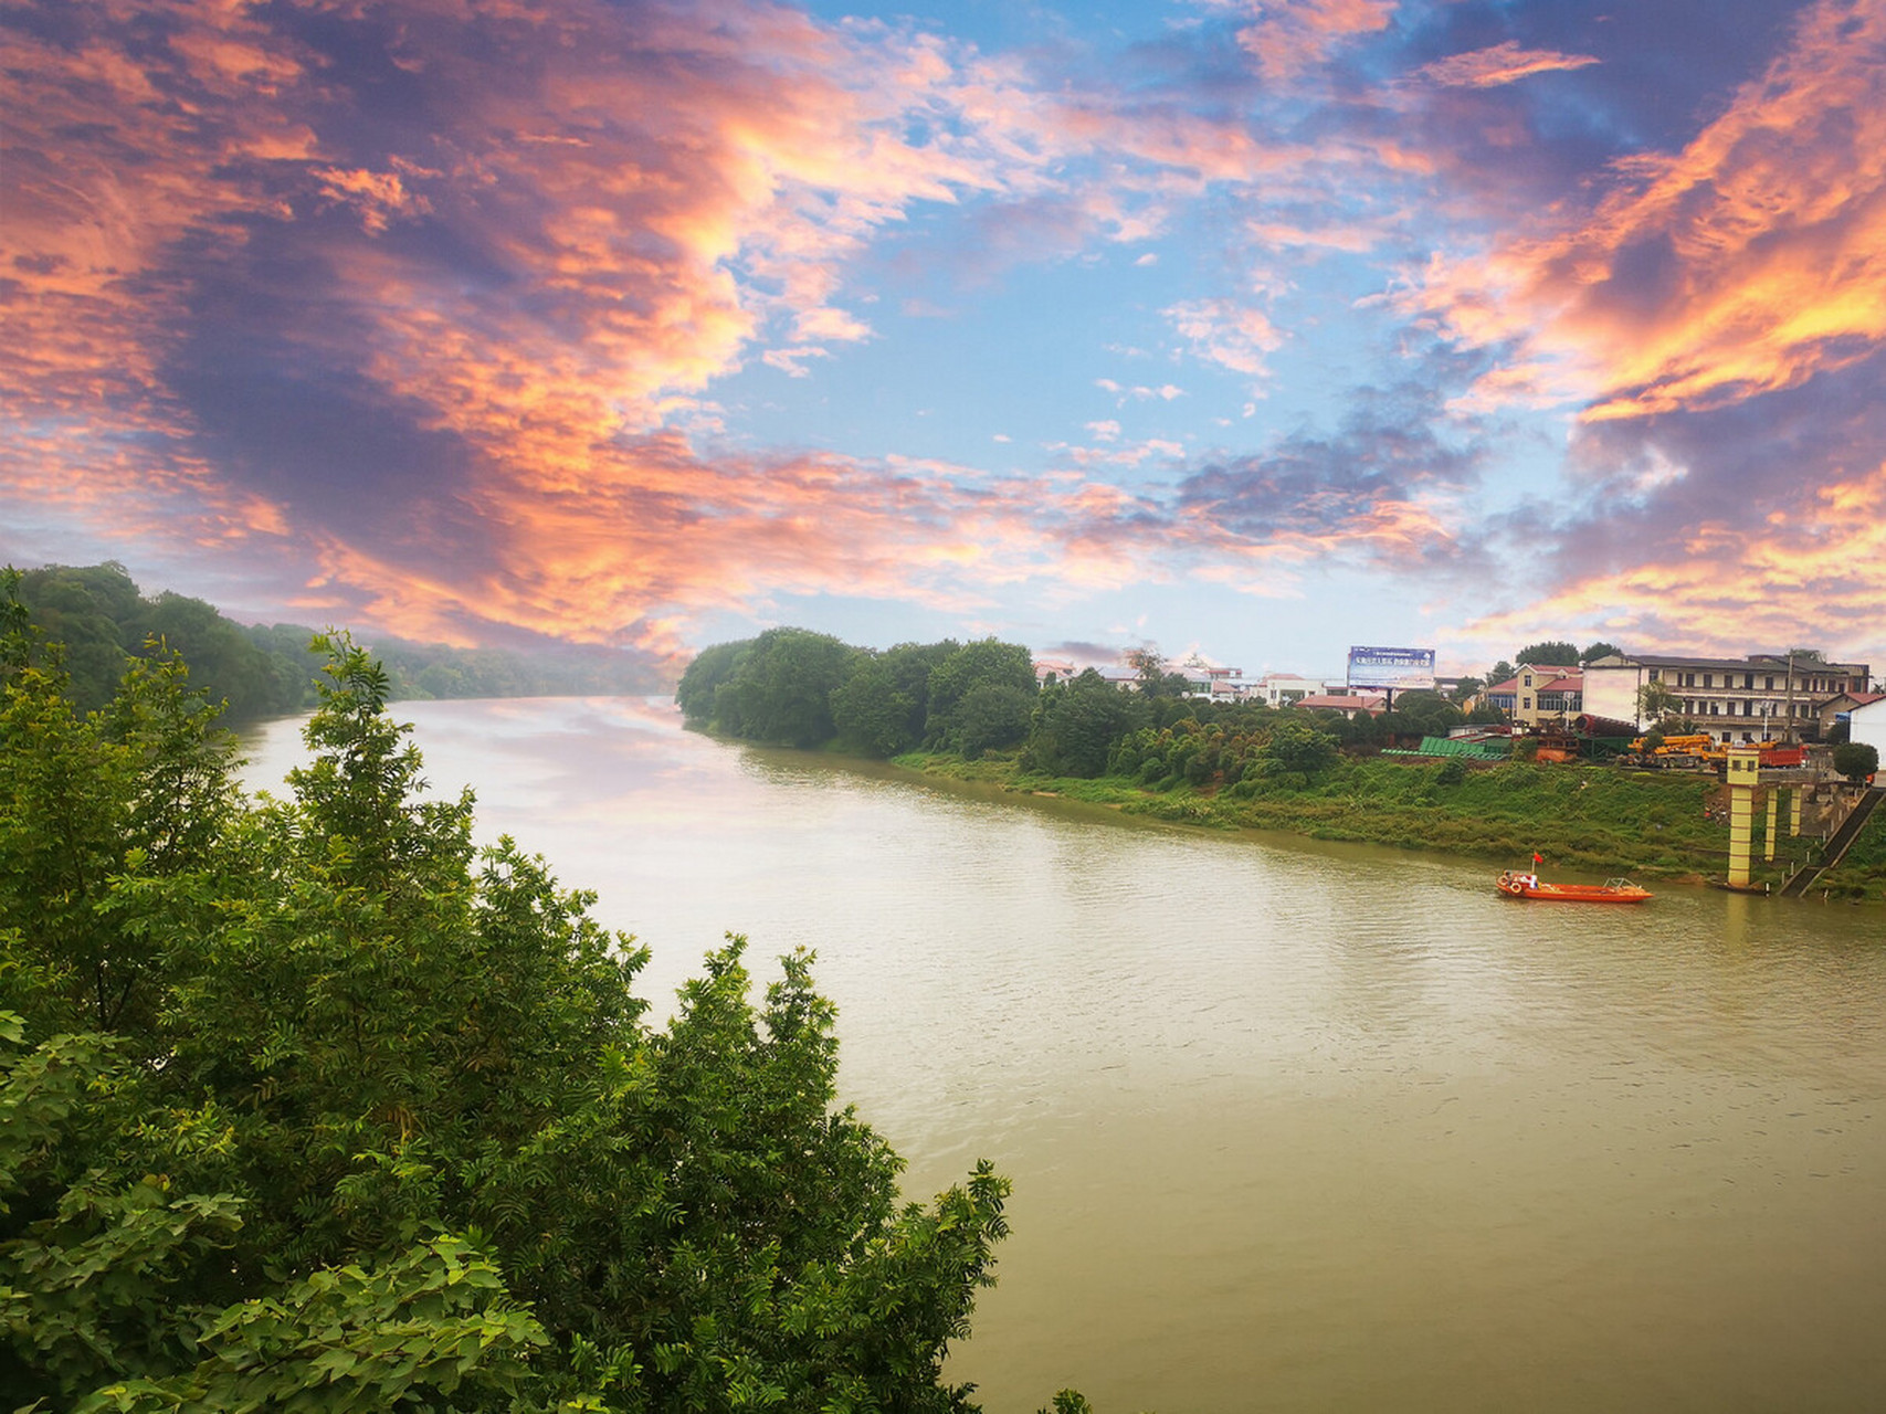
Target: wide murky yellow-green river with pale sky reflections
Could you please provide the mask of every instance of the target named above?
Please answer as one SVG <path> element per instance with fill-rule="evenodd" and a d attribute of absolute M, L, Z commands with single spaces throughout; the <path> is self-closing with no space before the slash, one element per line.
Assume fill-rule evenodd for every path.
<path fill-rule="evenodd" d="M 1886 918 L 1126 822 L 736 747 L 668 699 L 396 703 L 426 779 L 653 956 L 817 948 L 928 1197 L 1015 1180 L 990 1414 L 1886 1399 Z M 245 733 L 281 790 L 300 720 Z"/>

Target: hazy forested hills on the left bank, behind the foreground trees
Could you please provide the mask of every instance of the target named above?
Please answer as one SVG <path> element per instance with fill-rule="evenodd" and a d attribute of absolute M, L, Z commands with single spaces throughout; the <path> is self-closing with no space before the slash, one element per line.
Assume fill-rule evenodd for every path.
<path fill-rule="evenodd" d="M 307 650 L 313 628 L 238 624 L 204 600 L 168 590 L 145 596 L 113 562 L 26 569 L 19 598 L 47 639 L 66 647 L 72 698 L 81 709 L 108 703 L 126 658 L 141 656 L 153 637 L 185 656 L 192 686 L 228 701 L 224 720 L 251 722 L 315 705 L 323 660 Z M 370 637 L 366 647 L 385 666 L 396 699 L 605 696 L 671 686 L 645 660 L 596 645 L 519 652 Z"/>

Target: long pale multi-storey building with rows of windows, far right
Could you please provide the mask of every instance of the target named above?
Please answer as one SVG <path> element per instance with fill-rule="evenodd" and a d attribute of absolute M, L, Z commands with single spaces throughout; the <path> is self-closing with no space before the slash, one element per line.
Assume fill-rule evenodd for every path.
<path fill-rule="evenodd" d="M 1643 688 L 1662 684 L 1677 716 L 1718 741 L 1801 741 L 1820 737 L 1822 707 L 1867 692 L 1867 664 L 1829 664 L 1803 654 L 1684 658 L 1614 652 L 1584 666 L 1584 711 L 1645 724 Z"/>

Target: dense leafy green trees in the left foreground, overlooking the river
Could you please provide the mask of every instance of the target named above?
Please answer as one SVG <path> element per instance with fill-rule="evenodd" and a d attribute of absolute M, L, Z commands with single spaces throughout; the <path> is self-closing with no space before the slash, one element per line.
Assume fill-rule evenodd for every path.
<path fill-rule="evenodd" d="M 79 716 L 0 613 L 9 1405 L 973 1408 L 1007 1182 L 900 1205 L 809 956 L 754 1005 L 730 939 L 653 1029 L 645 954 L 421 797 L 347 639 L 251 801 L 181 662 Z"/>

